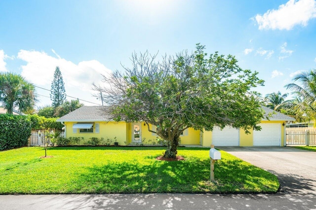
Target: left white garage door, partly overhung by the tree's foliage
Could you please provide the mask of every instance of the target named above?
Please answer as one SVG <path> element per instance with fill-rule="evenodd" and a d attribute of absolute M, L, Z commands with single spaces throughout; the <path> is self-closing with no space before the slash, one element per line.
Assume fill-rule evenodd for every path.
<path fill-rule="evenodd" d="M 214 127 L 212 133 L 212 143 L 215 146 L 238 146 L 239 129 L 225 127 L 221 130 L 219 127 Z"/>

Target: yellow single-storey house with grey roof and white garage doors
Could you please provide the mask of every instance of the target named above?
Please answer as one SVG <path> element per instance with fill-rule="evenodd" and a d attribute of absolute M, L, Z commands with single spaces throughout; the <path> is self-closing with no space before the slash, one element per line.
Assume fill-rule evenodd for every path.
<path fill-rule="evenodd" d="M 215 127 L 212 132 L 189 128 L 181 135 L 180 145 L 215 146 L 284 146 L 285 125 L 294 118 L 262 106 L 266 114 L 274 113 L 269 120 L 262 119 L 261 131 L 245 134 L 242 129 Z M 82 106 L 57 119 L 65 125 L 65 137 L 91 137 L 112 139 L 116 137 L 119 145 L 145 143 L 142 140 L 156 139 L 156 135 L 148 131 L 144 122 L 115 122 L 102 113 L 103 106 Z M 151 129 L 155 129 L 151 126 Z M 83 144 L 83 142 L 80 142 Z"/>

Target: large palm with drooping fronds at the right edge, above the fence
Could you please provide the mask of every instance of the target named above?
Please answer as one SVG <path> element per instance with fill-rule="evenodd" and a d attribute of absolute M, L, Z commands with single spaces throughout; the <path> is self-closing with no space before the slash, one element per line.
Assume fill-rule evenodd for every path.
<path fill-rule="evenodd" d="M 300 112 L 307 120 L 316 119 L 316 70 L 297 73 L 294 82 L 300 85 L 290 83 L 285 85 L 287 89 L 293 91 L 293 94 L 299 99 L 299 103 L 294 106 L 296 112 Z"/>

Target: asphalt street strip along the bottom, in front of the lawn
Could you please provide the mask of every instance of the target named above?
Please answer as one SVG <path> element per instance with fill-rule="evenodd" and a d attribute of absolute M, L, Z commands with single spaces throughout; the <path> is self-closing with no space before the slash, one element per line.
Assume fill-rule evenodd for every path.
<path fill-rule="evenodd" d="M 315 196 L 289 194 L 0 195 L 1 210 L 316 210 Z"/>

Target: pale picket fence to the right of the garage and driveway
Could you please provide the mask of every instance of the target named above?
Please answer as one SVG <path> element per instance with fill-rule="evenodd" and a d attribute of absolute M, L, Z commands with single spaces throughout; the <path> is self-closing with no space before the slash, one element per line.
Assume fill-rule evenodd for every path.
<path fill-rule="evenodd" d="M 287 145 L 316 144 L 316 128 L 285 128 Z"/>

